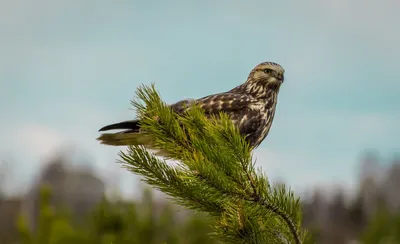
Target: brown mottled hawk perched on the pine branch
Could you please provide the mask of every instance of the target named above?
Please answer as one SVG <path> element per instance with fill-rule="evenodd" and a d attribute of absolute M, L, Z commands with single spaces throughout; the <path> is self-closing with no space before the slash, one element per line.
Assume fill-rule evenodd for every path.
<path fill-rule="evenodd" d="M 176 113 L 184 113 L 195 102 L 204 110 L 206 116 L 225 112 L 254 149 L 261 144 L 271 128 L 284 72 L 277 63 L 263 62 L 250 72 L 243 84 L 227 92 L 182 100 L 169 106 Z M 107 125 L 99 131 L 115 129 L 123 131 L 102 134 L 98 140 L 106 145 L 143 145 L 152 149 L 141 134 L 139 120 Z"/>

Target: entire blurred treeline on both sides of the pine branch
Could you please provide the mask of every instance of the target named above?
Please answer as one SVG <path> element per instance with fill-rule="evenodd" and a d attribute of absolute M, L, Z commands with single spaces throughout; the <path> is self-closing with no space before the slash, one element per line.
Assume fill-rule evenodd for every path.
<path fill-rule="evenodd" d="M 92 171 L 72 170 L 68 160 L 47 163 L 24 196 L 0 191 L 0 244 L 217 243 L 205 216 L 146 188 L 141 199 L 106 197 Z M 400 159 L 366 152 L 359 165 L 355 191 L 315 188 L 302 196 L 316 243 L 400 243 Z"/>

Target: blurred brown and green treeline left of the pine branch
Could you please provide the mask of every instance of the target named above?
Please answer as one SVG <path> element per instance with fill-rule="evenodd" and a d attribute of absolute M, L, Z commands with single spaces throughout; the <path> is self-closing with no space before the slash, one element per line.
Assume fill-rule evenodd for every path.
<path fill-rule="evenodd" d="M 215 243 L 204 216 L 149 188 L 135 201 L 107 197 L 90 168 L 63 157 L 46 165 L 26 196 L 0 198 L 0 244 Z"/>

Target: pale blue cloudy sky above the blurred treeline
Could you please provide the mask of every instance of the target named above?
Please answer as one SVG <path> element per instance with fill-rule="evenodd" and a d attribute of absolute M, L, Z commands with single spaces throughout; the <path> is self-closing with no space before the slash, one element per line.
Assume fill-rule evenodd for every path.
<path fill-rule="evenodd" d="M 400 152 L 400 3 L 336 1 L 0 1 L 0 156 L 13 190 L 43 159 L 78 147 L 127 194 L 135 177 L 97 129 L 130 119 L 155 82 L 164 100 L 242 83 L 263 61 L 286 70 L 258 165 L 299 192 L 354 185 L 358 157 Z"/>

